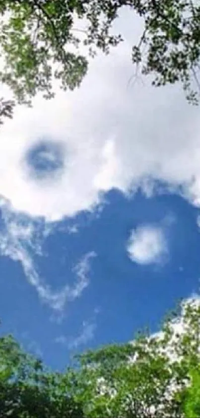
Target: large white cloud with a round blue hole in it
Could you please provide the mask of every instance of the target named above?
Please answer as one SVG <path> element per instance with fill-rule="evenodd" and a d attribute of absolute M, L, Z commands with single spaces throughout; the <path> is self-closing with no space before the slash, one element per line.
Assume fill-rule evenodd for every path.
<path fill-rule="evenodd" d="M 0 193 L 16 210 L 47 220 L 73 216 L 93 208 L 100 192 L 127 193 L 146 176 L 184 185 L 184 195 L 200 204 L 199 109 L 174 86 L 133 84 L 131 45 L 140 29 L 124 10 L 116 30 L 126 41 L 91 63 L 80 89 L 48 102 L 38 96 L 33 109 L 18 108 L 1 128 Z M 58 175 L 47 170 L 43 179 L 27 163 L 41 140 L 49 148 L 38 157 L 47 164 L 57 165 L 62 151 Z"/>

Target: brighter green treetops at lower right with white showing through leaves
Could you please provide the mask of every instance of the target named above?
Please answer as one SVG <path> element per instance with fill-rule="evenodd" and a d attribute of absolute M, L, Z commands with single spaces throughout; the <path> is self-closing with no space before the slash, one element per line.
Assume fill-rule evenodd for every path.
<path fill-rule="evenodd" d="M 102 347 L 79 357 L 82 391 L 77 399 L 86 417 L 198 414 L 200 305 L 184 309 L 182 322 L 165 321 L 159 336 L 144 332 L 132 343 Z"/>

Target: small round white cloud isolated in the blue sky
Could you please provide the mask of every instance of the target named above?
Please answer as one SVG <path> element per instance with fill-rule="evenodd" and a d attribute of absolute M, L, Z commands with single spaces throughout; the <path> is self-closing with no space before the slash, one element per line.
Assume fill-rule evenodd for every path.
<path fill-rule="evenodd" d="M 131 232 L 127 252 L 138 264 L 160 263 L 167 254 L 167 243 L 161 227 L 142 225 Z"/>

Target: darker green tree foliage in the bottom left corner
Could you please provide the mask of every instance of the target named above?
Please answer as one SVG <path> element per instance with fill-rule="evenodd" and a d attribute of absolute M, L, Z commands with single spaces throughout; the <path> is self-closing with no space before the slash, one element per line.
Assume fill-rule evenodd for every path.
<path fill-rule="evenodd" d="M 0 338 L 0 418 L 81 418 L 60 373 L 25 353 L 11 335 Z"/>

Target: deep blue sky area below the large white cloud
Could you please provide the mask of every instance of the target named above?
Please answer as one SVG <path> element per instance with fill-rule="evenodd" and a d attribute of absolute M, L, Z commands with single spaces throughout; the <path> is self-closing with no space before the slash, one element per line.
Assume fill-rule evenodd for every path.
<path fill-rule="evenodd" d="M 127 198 L 113 189 L 105 200 L 100 211 L 81 212 L 73 218 L 74 232 L 67 232 L 72 220 L 64 219 L 50 224 L 51 230 L 43 238 L 44 222 L 34 220 L 35 247 L 41 247 L 41 254 L 36 254 L 36 248 L 29 254 L 52 291 L 56 293 L 66 283 L 73 287 L 80 282 L 78 274 L 86 278 L 80 296 L 64 306 L 61 301 L 61 309 L 38 297 L 21 263 L 0 258 L 1 331 L 14 333 L 26 349 L 42 355 L 54 368 L 63 368 L 74 352 L 128 341 L 145 325 L 157 331 L 178 298 L 198 293 L 198 209 L 170 193 L 147 198 L 138 191 Z M 19 221 L 19 214 L 14 214 L 12 222 L 28 228 L 33 220 L 22 215 Z M 141 227 L 143 248 L 137 249 L 132 261 L 127 251 L 130 232 Z M 156 231 L 162 231 L 156 251 L 164 252 L 164 257 L 154 255 L 152 237 L 145 251 L 144 235 L 145 231 L 149 234 L 149 227 L 155 237 Z M 22 241 L 26 247 L 26 240 Z"/>

